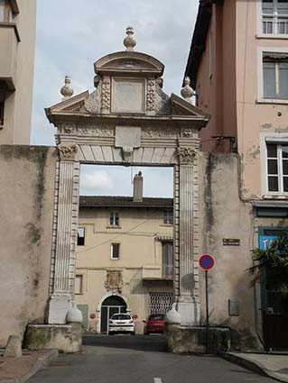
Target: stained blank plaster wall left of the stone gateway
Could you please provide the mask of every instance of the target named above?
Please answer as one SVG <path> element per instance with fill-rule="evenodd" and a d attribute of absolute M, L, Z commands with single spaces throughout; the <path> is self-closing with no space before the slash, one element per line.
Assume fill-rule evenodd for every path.
<path fill-rule="evenodd" d="M 54 148 L 0 146 L 0 347 L 44 320 L 55 162 Z"/>

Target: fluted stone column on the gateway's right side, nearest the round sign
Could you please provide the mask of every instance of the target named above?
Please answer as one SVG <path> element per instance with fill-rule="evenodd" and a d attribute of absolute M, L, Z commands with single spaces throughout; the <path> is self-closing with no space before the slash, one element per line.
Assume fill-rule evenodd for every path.
<path fill-rule="evenodd" d="M 194 296 L 193 273 L 193 161 L 196 151 L 178 148 L 179 156 L 179 295 L 181 325 L 198 325 L 200 310 Z"/>

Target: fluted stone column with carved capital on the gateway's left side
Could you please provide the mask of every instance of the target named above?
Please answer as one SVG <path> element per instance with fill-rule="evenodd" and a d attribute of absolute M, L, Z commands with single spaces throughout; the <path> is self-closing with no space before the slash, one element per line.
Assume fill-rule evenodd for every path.
<path fill-rule="evenodd" d="M 65 324 L 72 308 L 75 274 L 75 248 L 79 208 L 78 146 L 59 145 L 60 178 L 57 239 L 49 324 Z M 77 179 L 75 179 L 77 178 Z"/>

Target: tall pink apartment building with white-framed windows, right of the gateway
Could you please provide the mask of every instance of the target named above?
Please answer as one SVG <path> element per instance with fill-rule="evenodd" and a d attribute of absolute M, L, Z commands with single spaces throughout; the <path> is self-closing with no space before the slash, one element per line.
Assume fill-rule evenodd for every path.
<path fill-rule="evenodd" d="M 288 0 L 200 1 L 185 76 L 211 114 L 202 150 L 238 153 L 239 198 L 252 215 L 247 254 L 288 228 L 287 42 Z M 257 302 L 260 337 L 287 345 L 276 333 L 288 315 L 282 298 L 262 281 Z"/>

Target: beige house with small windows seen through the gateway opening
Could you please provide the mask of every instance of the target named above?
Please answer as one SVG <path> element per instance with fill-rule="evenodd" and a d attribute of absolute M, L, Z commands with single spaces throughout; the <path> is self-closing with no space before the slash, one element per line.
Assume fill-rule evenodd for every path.
<path fill-rule="evenodd" d="M 172 209 L 172 198 L 80 196 L 75 301 L 88 331 L 127 310 L 143 333 L 147 315 L 172 308 Z"/>

